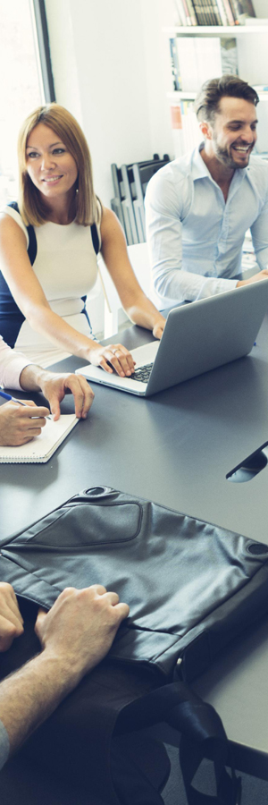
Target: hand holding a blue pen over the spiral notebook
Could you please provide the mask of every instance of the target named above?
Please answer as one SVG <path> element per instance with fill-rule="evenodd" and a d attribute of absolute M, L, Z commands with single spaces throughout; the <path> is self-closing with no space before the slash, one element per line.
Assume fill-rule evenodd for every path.
<path fill-rule="evenodd" d="M 0 445 L 26 445 L 34 436 L 39 436 L 48 414 L 48 408 L 38 407 L 30 400 L 26 401 L 26 405 L 5 402 L 0 406 Z"/>

